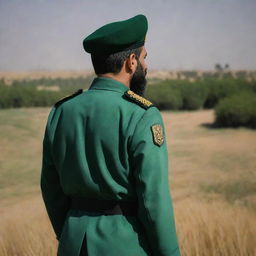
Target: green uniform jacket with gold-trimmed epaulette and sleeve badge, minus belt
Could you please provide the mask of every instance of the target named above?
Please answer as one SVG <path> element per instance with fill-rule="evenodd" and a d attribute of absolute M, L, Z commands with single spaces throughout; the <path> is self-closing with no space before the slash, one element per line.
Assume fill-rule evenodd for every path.
<path fill-rule="evenodd" d="M 180 255 L 163 120 L 156 107 L 127 90 L 98 77 L 49 114 L 41 190 L 59 256 L 78 256 L 83 243 L 89 256 Z M 154 135 L 154 125 L 163 138 L 161 131 Z M 74 196 L 137 201 L 138 216 L 71 210 Z"/>

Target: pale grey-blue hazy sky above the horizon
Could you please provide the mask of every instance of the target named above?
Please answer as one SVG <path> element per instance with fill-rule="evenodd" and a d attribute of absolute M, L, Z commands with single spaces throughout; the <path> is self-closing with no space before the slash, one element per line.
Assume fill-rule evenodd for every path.
<path fill-rule="evenodd" d="M 0 72 L 92 69 L 83 39 L 137 14 L 149 70 L 255 70 L 255 10 L 256 0 L 0 0 Z"/>

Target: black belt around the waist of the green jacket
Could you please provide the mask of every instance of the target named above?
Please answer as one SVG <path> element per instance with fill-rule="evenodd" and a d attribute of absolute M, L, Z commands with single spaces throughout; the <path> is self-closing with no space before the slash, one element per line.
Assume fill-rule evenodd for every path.
<path fill-rule="evenodd" d="M 137 203 L 75 197 L 71 200 L 71 209 L 82 210 L 102 215 L 137 216 Z"/>

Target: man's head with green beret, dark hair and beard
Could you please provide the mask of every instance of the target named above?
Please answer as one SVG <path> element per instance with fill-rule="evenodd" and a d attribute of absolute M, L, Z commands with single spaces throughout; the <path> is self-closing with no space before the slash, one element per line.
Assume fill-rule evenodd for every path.
<path fill-rule="evenodd" d="M 85 51 L 91 53 L 95 73 L 122 80 L 135 93 L 143 95 L 147 29 L 147 18 L 137 15 L 107 24 L 86 37 L 83 45 Z"/>

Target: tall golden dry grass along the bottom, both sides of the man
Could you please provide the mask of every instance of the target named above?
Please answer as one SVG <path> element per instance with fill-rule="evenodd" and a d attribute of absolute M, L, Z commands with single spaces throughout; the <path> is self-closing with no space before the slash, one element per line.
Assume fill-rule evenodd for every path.
<path fill-rule="evenodd" d="M 57 242 L 43 206 L 38 215 L 23 209 L 20 216 L 22 208 L 1 223 L 0 255 L 56 255 Z M 186 199 L 175 203 L 175 216 L 183 256 L 256 255 L 256 217 L 246 208 Z"/>

